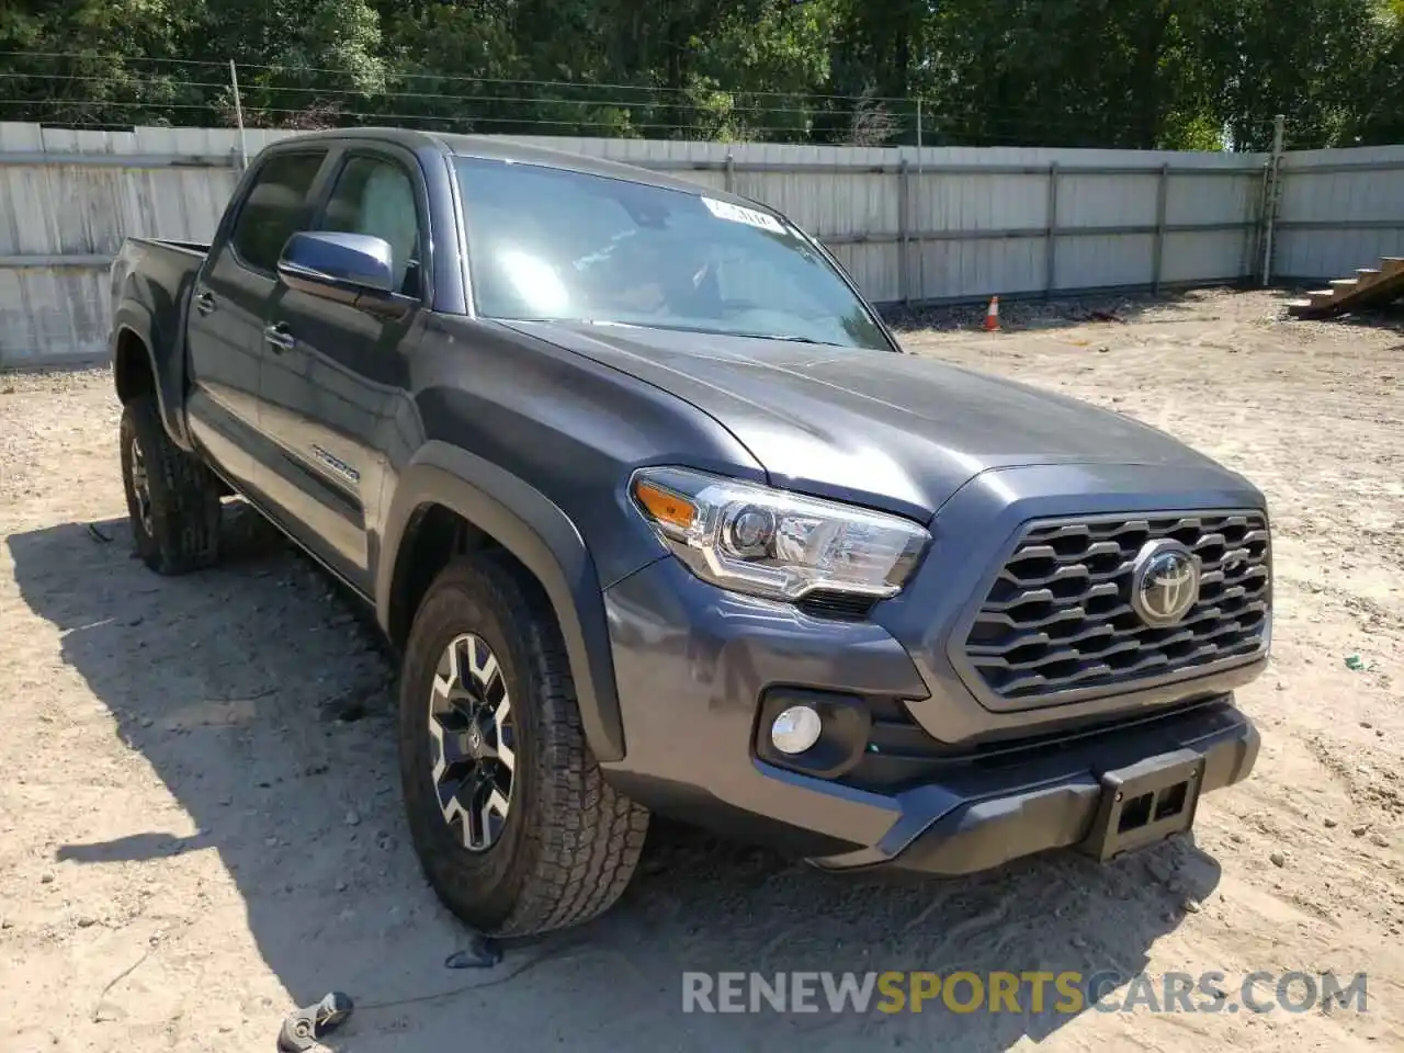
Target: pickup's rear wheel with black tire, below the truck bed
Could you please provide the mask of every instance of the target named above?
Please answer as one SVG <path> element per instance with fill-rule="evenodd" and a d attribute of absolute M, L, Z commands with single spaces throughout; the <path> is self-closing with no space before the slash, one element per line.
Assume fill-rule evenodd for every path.
<path fill-rule="evenodd" d="M 219 559 L 219 479 L 170 441 L 154 396 L 122 407 L 122 486 L 136 555 L 157 574 Z"/>

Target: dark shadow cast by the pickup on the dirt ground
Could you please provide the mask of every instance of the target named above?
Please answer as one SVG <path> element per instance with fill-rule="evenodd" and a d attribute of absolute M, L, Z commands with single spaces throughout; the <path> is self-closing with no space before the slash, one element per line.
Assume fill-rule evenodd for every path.
<path fill-rule="evenodd" d="M 357 1050 L 442 1049 L 476 1032 L 500 1050 L 1004 1050 L 1077 1011 L 1054 1008 L 1049 988 L 1040 1011 L 1021 995 L 1019 1012 L 952 1012 L 935 1000 L 920 1014 L 835 1014 L 819 986 L 819 1012 L 761 1001 L 761 1012 L 684 1014 L 684 973 L 1129 977 L 1186 901 L 1219 882 L 1189 841 L 1109 866 L 1053 855 L 935 882 L 828 876 L 657 823 L 640 873 L 605 917 L 511 943 L 490 972 L 448 970 L 465 932 L 402 833 L 390 660 L 307 560 L 247 511 L 229 518 L 232 557 L 181 578 L 129 556 L 125 521 L 7 539 L 25 602 L 63 633 L 63 660 L 199 828 L 69 844 L 56 856 L 159 866 L 218 851 L 291 997 L 306 1004 L 336 988 L 358 1000 L 333 1047 L 344 1035 Z M 289 1008 L 267 1008 L 270 1045 Z"/>

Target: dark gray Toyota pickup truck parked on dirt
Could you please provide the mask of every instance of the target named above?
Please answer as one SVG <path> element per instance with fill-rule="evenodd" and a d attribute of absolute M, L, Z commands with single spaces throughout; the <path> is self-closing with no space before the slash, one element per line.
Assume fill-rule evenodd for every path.
<path fill-rule="evenodd" d="M 208 566 L 239 494 L 373 607 L 416 851 L 483 931 L 605 910 L 651 812 L 955 875 L 1181 834 L 1257 758 L 1262 494 L 903 352 L 754 201 L 303 135 L 112 306 L 136 552 Z"/>

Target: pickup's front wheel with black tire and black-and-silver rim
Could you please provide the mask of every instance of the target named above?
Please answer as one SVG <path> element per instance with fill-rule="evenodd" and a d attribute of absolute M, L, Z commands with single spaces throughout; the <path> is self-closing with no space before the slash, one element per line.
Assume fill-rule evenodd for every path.
<path fill-rule="evenodd" d="M 468 925 L 576 925 L 629 883 L 649 813 L 605 783 L 550 607 L 503 557 L 455 560 L 420 605 L 399 753 L 414 849 Z"/>

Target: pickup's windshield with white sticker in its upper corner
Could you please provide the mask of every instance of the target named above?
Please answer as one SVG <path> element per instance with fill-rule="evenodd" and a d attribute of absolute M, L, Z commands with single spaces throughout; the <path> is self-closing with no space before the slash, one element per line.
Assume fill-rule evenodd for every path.
<path fill-rule="evenodd" d="M 890 351 L 769 212 L 534 164 L 456 159 L 477 313 Z"/>

